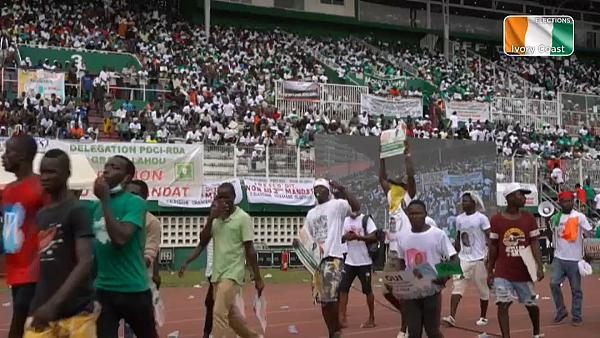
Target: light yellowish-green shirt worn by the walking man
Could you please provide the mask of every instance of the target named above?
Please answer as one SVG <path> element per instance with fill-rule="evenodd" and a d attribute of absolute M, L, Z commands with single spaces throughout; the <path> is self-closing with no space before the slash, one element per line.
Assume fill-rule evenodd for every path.
<path fill-rule="evenodd" d="M 252 219 L 239 207 L 229 218 L 215 219 L 212 224 L 213 273 L 211 282 L 231 279 L 244 283 L 246 257 L 244 242 L 254 240 Z"/>

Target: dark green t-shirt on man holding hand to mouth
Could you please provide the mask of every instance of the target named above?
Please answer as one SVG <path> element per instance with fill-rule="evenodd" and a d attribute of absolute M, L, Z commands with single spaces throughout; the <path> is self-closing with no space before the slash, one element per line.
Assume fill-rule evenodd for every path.
<path fill-rule="evenodd" d="M 109 209 L 119 222 L 135 227 L 129 241 L 117 248 L 111 244 L 106 231 L 102 205 L 95 201 L 90 206 L 94 221 L 94 240 L 96 255 L 96 280 L 98 290 L 114 292 L 142 292 L 149 288 L 144 263 L 146 202 L 140 197 L 120 191 L 111 194 Z"/>

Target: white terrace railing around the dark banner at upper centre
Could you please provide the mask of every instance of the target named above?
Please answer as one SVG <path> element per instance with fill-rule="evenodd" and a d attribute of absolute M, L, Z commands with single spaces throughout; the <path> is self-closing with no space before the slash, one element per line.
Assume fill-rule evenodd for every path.
<path fill-rule="evenodd" d="M 275 83 L 275 106 L 283 116 L 292 111 L 302 116 L 308 111 L 325 112 L 330 119 L 349 121 L 356 113 L 360 113 L 360 97 L 368 94 L 366 86 L 319 83 L 319 99 L 303 100 L 286 98 L 283 81 Z"/>

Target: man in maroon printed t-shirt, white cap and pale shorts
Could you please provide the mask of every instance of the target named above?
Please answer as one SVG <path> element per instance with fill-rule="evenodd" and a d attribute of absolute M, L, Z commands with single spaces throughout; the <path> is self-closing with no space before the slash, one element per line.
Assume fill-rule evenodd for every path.
<path fill-rule="evenodd" d="M 533 281 L 527 270 L 536 265 L 537 281 L 544 278 L 539 244 L 540 230 L 535 218 L 520 209 L 525 206 L 525 195 L 531 191 L 519 183 L 510 183 L 504 191 L 506 209 L 491 220 L 488 284 L 493 285 L 498 306 L 498 322 L 502 338 L 510 338 L 508 310 L 515 296 L 525 305 L 531 324 L 533 338 L 540 334 L 540 310 L 533 290 Z"/>

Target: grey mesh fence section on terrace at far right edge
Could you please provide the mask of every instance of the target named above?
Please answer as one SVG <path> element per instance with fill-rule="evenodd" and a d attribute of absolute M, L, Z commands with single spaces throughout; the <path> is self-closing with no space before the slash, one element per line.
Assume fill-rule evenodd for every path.
<path fill-rule="evenodd" d="M 582 126 L 600 127 L 600 96 L 559 92 L 558 98 L 563 128 L 569 133 L 576 134 Z"/>

